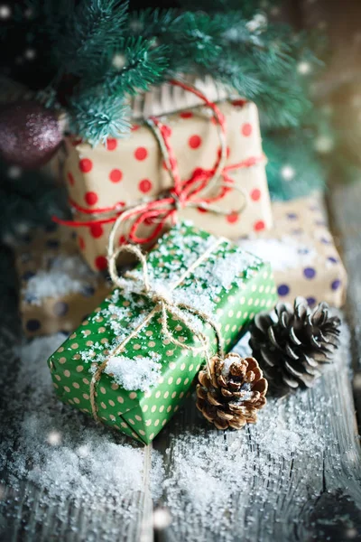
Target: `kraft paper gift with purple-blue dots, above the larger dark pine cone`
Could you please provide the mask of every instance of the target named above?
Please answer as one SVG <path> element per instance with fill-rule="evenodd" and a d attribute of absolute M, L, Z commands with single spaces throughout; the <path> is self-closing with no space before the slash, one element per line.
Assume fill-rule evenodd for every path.
<path fill-rule="evenodd" d="M 335 307 L 346 301 L 347 273 L 329 232 L 320 195 L 273 202 L 274 227 L 239 245 L 269 261 L 282 301 L 297 295 L 311 306 L 326 301 Z"/>

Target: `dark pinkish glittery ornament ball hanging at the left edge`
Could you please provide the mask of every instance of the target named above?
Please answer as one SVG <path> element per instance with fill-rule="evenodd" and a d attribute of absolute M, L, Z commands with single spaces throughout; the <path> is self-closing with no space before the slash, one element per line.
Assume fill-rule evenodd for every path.
<path fill-rule="evenodd" d="M 54 112 L 28 100 L 0 109 L 0 154 L 6 162 L 36 169 L 49 162 L 62 140 Z"/>

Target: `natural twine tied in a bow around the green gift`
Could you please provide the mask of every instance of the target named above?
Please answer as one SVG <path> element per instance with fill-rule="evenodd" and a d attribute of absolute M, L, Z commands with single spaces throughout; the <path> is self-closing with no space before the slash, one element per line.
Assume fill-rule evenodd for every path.
<path fill-rule="evenodd" d="M 116 356 L 116 354 L 120 353 L 122 350 L 124 350 L 125 345 L 131 341 L 134 337 L 137 336 L 137 334 L 143 329 L 143 327 L 152 320 L 154 314 L 161 313 L 161 320 L 162 320 L 162 333 L 171 341 L 172 344 L 175 346 L 179 346 L 182 349 L 190 350 L 193 353 L 199 353 L 203 352 L 206 358 L 207 367 L 209 370 L 209 343 L 208 343 L 208 337 L 203 333 L 200 332 L 196 326 L 190 321 L 190 318 L 187 317 L 186 314 L 183 314 L 182 311 L 187 311 L 189 313 L 192 313 L 196 316 L 199 316 L 199 318 L 203 322 L 207 322 L 216 333 L 217 343 L 218 343 L 218 355 L 223 356 L 223 338 L 220 334 L 218 323 L 214 322 L 206 313 L 203 313 L 199 309 L 194 308 L 190 304 L 177 304 L 176 302 L 171 300 L 171 292 L 179 286 L 183 280 L 194 271 L 207 257 L 216 249 L 219 247 L 219 245 L 224 241 L 223 238 L 218 238 L 215 243 L 213 243 L 207 250 L 203 252 L 203 254 L 197 258 L 193 264 L 188 267 L 184 273 L 178 278 L 176 282 L 174 282 L 172 285 L 169 286 L 169 289 L 163 294 L 162 292 L 156 291 L 152 289 L 152 285 L 149 280 L 149 272 L 148 272 L 148 265 L 146 261 L 146 257 L 143 255 L 143 252 L 140 250 L 140 248 L 135 247 L 134 245 L 123 245 L 121 247 L 115 248 L 115 237 L 116 237 L 116 230 L 121 225 L 123 220 L 126 220 L 127 216 L 126 213 L 123 215 L 120 215 L 118 219 L 116 220 L 116 223 L 110 233 L 109 236 L 109 242 L 108 242 L 108 252 L 107 252 L 107 260 L 108 260 L 108 269 L 110 277 L 115 285 L 122 288 L 123 283 L 121 277 L 118 275 L 116 270 L 116 259 L 122 252 L 130 252 L 136 256 L 141 265 L 142 265 L 142 271 L 143 271 L 143 278 L 142 284 L 143 289 L 142 292 L 148 299 L 152 300 L 155 304 L 153 310 L 145 316 L 143 319 L 143 322 L 141 322 L 139 325 L 136 326 L 136 328 L 127 335 L 124 341 L 122 341 L 120 344 L 116 346 L 114 350 L 112 350 L 109 354 L 106 360 L 101 363 L 95 373 L 93 374 L 91 381 L 90 381 L 90 389 L 89 389 L 89 397 L 90 397 L 90 404 L 91 404 L 91 411 L 92 415 L 95 420 L 98 420 L 97 416 L 97 401 L 96 401 L 96 390 L 97 390 L 97 383 L 99 382 L 104 370 L 106 369 L 106 366 L 108 364 L 108 361 L 113 356 Z M 139 280 L 132 276 L 133 279 Z M 178 341 L 173 334 L 171 333 L 171 330 L 168 325 L 168 314 L 171 314 L 173 317 L 175 317 L 178 321 L 182 322 L 183 325 L 185 325 L 190 332 L 193 333 L 193 335 L 199 340 L 200 346 L 191 346 L 190 344 L 180 342 Z"/>

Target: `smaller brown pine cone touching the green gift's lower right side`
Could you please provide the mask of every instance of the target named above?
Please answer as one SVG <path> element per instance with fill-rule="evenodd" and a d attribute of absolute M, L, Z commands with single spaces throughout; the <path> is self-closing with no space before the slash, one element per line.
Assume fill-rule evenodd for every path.
<path fill-rule="evenodd" d="M 214 356 L 209 368 L 199 372 L 197 407 L 218 429 L 241 429 L 255 424 L 257 410 L 266 403 L 267 380 L 255 358 L 230 353 Z"/>

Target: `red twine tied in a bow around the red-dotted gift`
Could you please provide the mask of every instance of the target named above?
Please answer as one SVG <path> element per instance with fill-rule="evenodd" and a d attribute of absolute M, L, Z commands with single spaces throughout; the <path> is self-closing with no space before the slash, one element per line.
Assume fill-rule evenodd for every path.
<path fill-rule="evenodd" d="M 165 167 L 173 180 L 171 190 L 168 191 L 164 196 L 161 195 L 150 201 L 140 201 L 127 207 L 125 207 L 125 203 L 118 202 L 116 205 L 111 207 L 90 210 L 79 206 L 75 201 L 70 201 L 71 206 L 74 209 L 79 210 L 81 213 L 89 215 L 110 214 L 111 216 L 106 218 L 96 218 L 95 220 L 88 221 L 60 220 L 57 217 L 53 217 L 55 222 L 66 226 L 91 228 L 96 224 L 114 223 L 120 214 L 125 213 L 126 220 L 133 219 L 129 233 L 127 234 L 128 241 L 133 241 L 137 244 L 145 244 L 152 242 L 155 238 L 158 238 L 167 223 L 171 222 L 171 224 L 174 224 L 177 220 L 178 210 L 180 209 L 193 207 L 198 208 L 199 210 L 210 211 L 223 215 L 229 215 L 235 212 L 234 210 L 221 210 L 215 205 L 218 203 L 218 201 L 221 201 L 225 197 L 227 192 L 235 188 L 234 181 L 228 175 L 228 173 L 241 168 L 252 167 L 255 164 L 264 162 L 264 156 L 250 157 L 238 164 L 224 166 L 224 162 L 227 158 L 225 117 L 218 107 L 213 102 L 209 101 L 208 98 L 199 92 L 199 90 L 177 80 L 171 80 L 171 84 L 182 89 L 189 90 L 202 99 L 204 103 L 212 110 L 221 141 L 221 149 L 214 167 L 209 170 L 197 168 L 194 170 L 189 180 L 182 181 L 180 179 L 178 163 L 171 148 L 170 128 L 169 126 L 163 125 L 158 118 L 151 117 L 147 121 L 147 124 L 153 127 L 154 134 L 156 135 L 161 146 Z M 218 179 L 222 179 L 222 182 L 218 182 Z M 206 192 L 210 192 L 210 188 L 216 188 L 216 192 L 207 197 Z M 145 238 L 141 238 L 137 235 L 137 232 L 138 229 L 144 224 L 155 224 L 155 227 L 150 235 Z"/>

